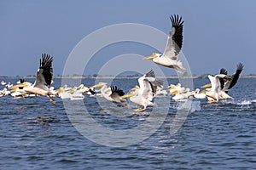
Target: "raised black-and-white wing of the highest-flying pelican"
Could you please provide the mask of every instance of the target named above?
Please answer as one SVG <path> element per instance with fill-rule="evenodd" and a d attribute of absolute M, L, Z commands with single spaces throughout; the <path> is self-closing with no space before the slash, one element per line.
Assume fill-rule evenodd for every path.
<path fill-rule="evenodd" d="M 177 14 L 170 17 L 172 21 L 172 30 L 169 33 L 166 49 L 163 56 L 171 59 L 177 59 L 183 46 L 183 20 Z"/>

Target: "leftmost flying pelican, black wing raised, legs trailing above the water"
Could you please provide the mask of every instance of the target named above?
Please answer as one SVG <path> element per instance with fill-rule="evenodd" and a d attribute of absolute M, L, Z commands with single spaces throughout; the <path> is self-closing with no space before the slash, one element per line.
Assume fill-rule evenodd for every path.
<path fill-rule="evenodd" d="M 23 94 L 38 94 L 46 96 L 53 104 L 55 104 L 55 100 L 50 97 L 52 93 L 48 88 L 53 78 L 52 61 L 53 57 L 51 57 L 49 54 L 42 54 L 36 81 L 32 85 L 25 83 L 16 85 L 12 88 L 17 88 L 16 90 Z"/>

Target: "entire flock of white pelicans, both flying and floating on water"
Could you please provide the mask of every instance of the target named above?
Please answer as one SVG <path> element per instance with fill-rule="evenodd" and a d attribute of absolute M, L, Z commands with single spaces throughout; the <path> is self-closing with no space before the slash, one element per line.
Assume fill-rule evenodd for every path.
<path fill-rule="evenodd" d="M 180 74 L 186 69 L 183 63 L 178 60 L 178 55 L 183 47 L 183 18 L 177 14 L 170 17 L 172 28 L 169 32 L 166 42 L 166 48 L 163 54 L 153 53 L 151 56 L 143 59 L 152 59 L 157 65 L 163 65 L 174 69 Z M 96 85 L 86 87 L 80 84 L 74 87 L 64 85 L 59 88 L 52 86 L 53 82 L 53 57 L 49 54 L 42 54 L 39 59 L 39 68 L 34 83 L 26 82 L 24 79 L 19 79 L 15 85 L 10 82 L 1 81 L 0 97 L 12 96 L 15 99 L 36 97 L 38 95 L 45 96 L 50 102 L 55 104 L 55 99 L 85 99 L 85 95 L 90 97 L 102 97 L 108 102 L 117 103 L 128 107 L 127 99 L 139 106 L 135 109 L 137 112 L 147 110 L 148 107 L 157 106 L 154 104 L 154 99 L 157 97 L 170 97 L 173 101 L 180 102 L 188 99 L 207 99 L 209 103 L 218 102 L 219 100 L 232 99 L 230 96 L 230 88 L 236 85 L 238 78 L 244 65 L 239 63 L 236 67 L 236 72 L 233 75 L 228 75 L 228 72 L 222 68 L 219 74 L 208 75 L 210 84 L 190 90 L 183 87 L 182 84 L 170 84 L 166 88 L 163 86 L 163 81 L 155 77 L 154 71 L 150 70 L 142 77 L 138 77 L 138 84 L 131 88 L 129 93 L 117 86 L 108 87 L 108 83 L 99 82 Z M 149 69 L 148 69 L 149 70 Z"/>

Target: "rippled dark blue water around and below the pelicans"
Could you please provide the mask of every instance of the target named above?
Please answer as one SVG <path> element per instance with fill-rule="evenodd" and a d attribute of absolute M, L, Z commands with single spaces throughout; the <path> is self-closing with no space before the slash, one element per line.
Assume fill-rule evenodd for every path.
<path fill-rule="evenodd" d="M 90 86 L 94 79 L 83 82 Z M 196 88 L 205 83 L 207 79 L 194 80 Z M 60 84 L 60 79 L 55 79 L 54 86 Z M 113 82 L 126 93 L 135 84 L 136 79 Z M 256 167 L 255 85 L 256 79 L 240 79 L 230 90 L 234 99 L 226 102 L 208 104 L 205 99 L 193 100 L 183 126 L 172 135 L 170 127 L 177 108 L 186 105 L 162 97 L 162 102 L 171 101 L 165 121 L 148 139 L 125 147 L 108 147 L 84 138 L 70 122 L 61 99 L 52 105 L 44 97 L 3 97 L 0 98 L 1 169 L 253 169 Z M 76 101 L 72 102 L 75 108 Z M 98 105 L 96 98 L 87 96 L 83 102 L 96 122 L 119 130 L 137 127 L 152 111 L 134 114 L 134 108 L 125 109 L 104 100 Z M 77 108 L 77 114 L 80 112 Z"/>

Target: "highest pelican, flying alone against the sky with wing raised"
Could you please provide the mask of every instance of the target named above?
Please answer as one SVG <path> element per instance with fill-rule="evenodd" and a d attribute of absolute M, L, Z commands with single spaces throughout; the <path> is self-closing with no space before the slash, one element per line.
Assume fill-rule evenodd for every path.
<path fill-rule="evenodd" d="M 177 60 L 177 55 L 183 46 L 183 20 L 182 17 L 176 14 L 172 15 L 170 19 L 172 21 L 172 30 L 167 38 L 164 54 L 153 53 L 143 59 L 153 59 L 154 63 L 172 68 L 183 74 L 186 69 L 183 67 L 182 62 Z"/>

